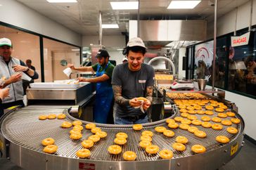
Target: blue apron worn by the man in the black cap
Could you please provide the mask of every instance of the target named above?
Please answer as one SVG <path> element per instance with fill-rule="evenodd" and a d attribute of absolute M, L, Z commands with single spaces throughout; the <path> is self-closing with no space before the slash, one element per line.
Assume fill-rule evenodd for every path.
<path fill-rule="evenodd" d="M 99 72 L 101 65 L 98 65 L 96 77 L 100 77 L 105 73 L 110 62 L 105 68 Z M 106 124 L 108 119 L 108 112 L 110 111 L 111 103 L 113 100 L 113 89 L 108 81 L 96 83 L 96 100 L 94 103 L 94 122 Z"/>

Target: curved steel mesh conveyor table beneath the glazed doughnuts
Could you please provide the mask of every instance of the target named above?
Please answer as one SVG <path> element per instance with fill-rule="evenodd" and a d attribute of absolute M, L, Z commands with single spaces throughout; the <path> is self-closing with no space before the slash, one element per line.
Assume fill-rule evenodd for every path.
<path fill-rule="evenodd" d="M 225 103 L 226 104 L 226 103 Z M 231 110 L 230 105 L 229 110 Z M 53 106 L 45 107 L 25 107 L 22 109 L 9 112 L 1 119 L 0 140 L 3 143 L 1 148 L 4 157 L 8 157 L 12 162 L 25 169 L 218 169 L 229 162 L 241 149 L 243 145 L 243 118 L 236 113 L 236 117 L 241 119 L 240 124 L 232 124 L 238 129 L 237 134 L 226 132 L 226 127 L 222 131 L 206 129 L 203 126 L 196 126 L 207 133 L 206 138 L 198 138 L 193 133 L 182 129 L 170 129 L 174 131 L 175 136 L 168 138 L 162 133 L 157 133 L 155 126 L 169 127 L 165 119 L 158 122 L 143 124 L 141 131 L 134 131 L 131 125 L 113 125 L 113 124 L 96 124 L 102 131 L 108 133 L 106 138 L 102 138 L 90 148 L 91 156 L 87 159 L 79 159 L 76 156 L 77 150 L 82 149 L 81 142 L 92 135 L 91 131 L 84 129 L 83 137 L 80 140 L 71 140 L 70 129 L 62 129 L 60 124 L 64 121 L 72 122 L 77 120 L 71 117 L 67 108 L 58 108 Z M 233 111 L 233 110 L 232 110 Z M 66 119 L 46 119 L 39 120 L 39 115 L 56 115 L 65 113 Z M 180 115 L 177 107 L 174 107 L 174 115 Z M 198 119 L 201 115 L 196 115 Z M 217 114 L 215 113 L 215 115 Z M 212 116 L 210 116 L 212 117 Z M 230 117 L 229 117 L 230 118 Z M 222 118 L 228 119 L 228 118 Z M 82 121 L 83 126 L 88 122 Z M 153 131 L 153 145 L 158 145 L 160 150 L 169 149 L 174 152 L 172 159 L 162 159 L 158 154 L 150 155 L 139 146 L 141 132 L 144 130 Z M 134 162 L 124 161 L 122 153 L 120 155 L 110 155 L 108 146 L 113 145 L 115 134 L 125 132 L 128 135 L 127 143 L 122 146 L 122 153 L 126 150 L 136 152 L 137 158 Z M 224 135 L 230 139 L 227 144 L 217 143 L 216 136 Z M 177 152 L 172 148 L 177 136 L 186 136 L 188 143 L 184 152 Z M 55 154 L 50 155 L 42 152 L 43 146 L 41 140 L 44 138 L 53 138 L 56 141 L 58 150 Z M 195 144 L 204 145 L 206 152 L 202 154 L 193 154 L 191 146 Z M 0 145 L 1 146 L 1 145 Z"/>

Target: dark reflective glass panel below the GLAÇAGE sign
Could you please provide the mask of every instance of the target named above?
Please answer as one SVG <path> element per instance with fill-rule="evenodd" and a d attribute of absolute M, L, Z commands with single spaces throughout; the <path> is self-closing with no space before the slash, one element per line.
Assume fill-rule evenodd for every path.
<path fill-rule="evenodd" d="M 229 53 L 229 90 L 256 96 L 256 37 L 250 32 L 249 44 L 231 47 Z"/>

